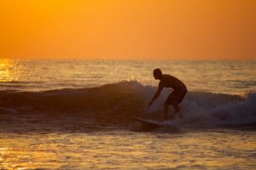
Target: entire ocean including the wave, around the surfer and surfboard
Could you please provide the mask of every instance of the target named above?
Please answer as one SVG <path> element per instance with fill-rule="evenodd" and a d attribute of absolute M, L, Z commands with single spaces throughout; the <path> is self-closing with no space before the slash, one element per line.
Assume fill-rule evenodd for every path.
<path fill-rule="evenodd" d="M 154 129 L 181 79 L 183 118 Z M 256 61 L 0 59 L 0 169 L 255 169 Z M 172 114 L 171 108 L 169 113 Z"/>

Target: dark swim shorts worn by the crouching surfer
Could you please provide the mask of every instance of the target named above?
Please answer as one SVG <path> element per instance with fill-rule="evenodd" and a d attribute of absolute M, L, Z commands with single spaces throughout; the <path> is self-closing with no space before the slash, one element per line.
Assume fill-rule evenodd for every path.
<path fill-rule="evenodd" d="M 169 97 L 166 99 L 165 104 L 168 105 L 178 105 L 183 101 L 184 96 L 187 94 L 187 89 L 184 88 L 181 93 L 177 90 L 174 90 Z"/>

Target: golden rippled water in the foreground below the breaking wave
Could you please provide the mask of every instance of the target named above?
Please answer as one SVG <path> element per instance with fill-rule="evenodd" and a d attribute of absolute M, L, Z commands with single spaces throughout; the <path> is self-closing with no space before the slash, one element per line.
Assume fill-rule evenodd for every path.
<path fill-rule="evenodd" d="M 222 168 L 256 166 L 254 132 L 0 134 L 3 168 Z"/>

